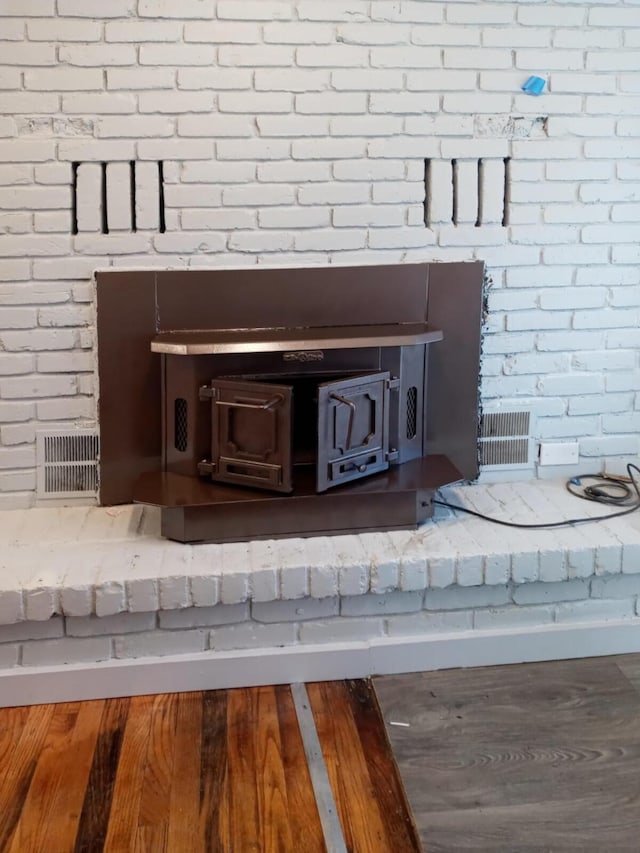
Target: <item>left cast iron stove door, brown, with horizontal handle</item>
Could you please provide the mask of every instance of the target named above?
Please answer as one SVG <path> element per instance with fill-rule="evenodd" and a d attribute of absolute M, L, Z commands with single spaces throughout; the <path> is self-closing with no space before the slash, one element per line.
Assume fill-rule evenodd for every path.
<path fill-rule="evenodd" d="M 211 478 L 290 492 L 291 387 L 215 379 L 211 397 Z"/>

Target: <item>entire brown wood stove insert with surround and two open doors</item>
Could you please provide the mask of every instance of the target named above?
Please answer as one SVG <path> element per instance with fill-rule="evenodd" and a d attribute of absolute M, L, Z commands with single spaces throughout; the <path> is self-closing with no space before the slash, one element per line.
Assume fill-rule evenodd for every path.
<path fill-rule="evenodd" d="M 103 504 L 183 542 L 413 527 L 477 475 L 483 266 L 97 274 Z"/>

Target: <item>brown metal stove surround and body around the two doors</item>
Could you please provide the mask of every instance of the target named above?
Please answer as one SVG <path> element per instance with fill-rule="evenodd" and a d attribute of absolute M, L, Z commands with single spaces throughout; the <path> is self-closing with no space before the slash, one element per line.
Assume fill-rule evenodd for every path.
<path fill-rule="evenodd" d="M 96 278 L 102 504 L 160 505 L 163 534 L 183 542 L 310 536 L 414 527 L 431 515 L 438 487 L 477 476 L 482 263 Z M 306 468 L 295 469 L 287 494 L 198 476 L 210 446 L 207 404 L 190 421 L 188 452 L 186 438 L 176 451 L 171 383 L 184 377 L 194 411 L 202 386 L 217 377 L 253 381 L 275 371 L 289 381 L 282 362 L 301 354 L 298 378 L 341 380 L 346 368 L 400 383 L 389 398 L 400 432 L 402 373 L 415 375 L 424 358 L 417 443 L 404 441 L 399 460 L 391 447 L 387 470 L 323 493 Z"/>

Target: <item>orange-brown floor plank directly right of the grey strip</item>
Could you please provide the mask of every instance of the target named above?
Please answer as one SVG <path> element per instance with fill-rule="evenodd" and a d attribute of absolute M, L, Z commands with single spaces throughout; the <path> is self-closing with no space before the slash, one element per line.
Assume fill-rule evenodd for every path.
<path fill-rule="evenodd" d="M 347 849 L 393 850 L 345 683 L 310 684 L 307 689 Z"/>

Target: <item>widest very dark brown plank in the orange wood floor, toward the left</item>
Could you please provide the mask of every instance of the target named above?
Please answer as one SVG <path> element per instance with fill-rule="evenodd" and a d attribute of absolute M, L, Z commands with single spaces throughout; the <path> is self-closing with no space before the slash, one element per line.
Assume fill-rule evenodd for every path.
<path fill-rule="evenodd" d="M 100 853 L 104 848 L 129 704 L 128 698 L 107 699 L 104 703 L 76 835 L 75 853 Z"/>

